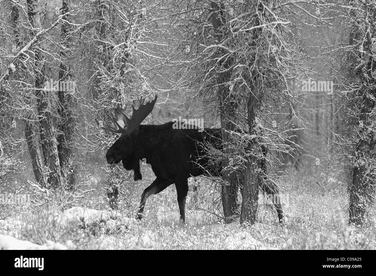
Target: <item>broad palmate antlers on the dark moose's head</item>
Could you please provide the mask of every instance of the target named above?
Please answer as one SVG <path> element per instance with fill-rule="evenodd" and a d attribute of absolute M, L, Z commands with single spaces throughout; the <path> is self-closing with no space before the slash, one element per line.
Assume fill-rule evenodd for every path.
<path fill-rule="evenodd" d="M 105 114 L 111 119 L 112 123 L 114 124 L 114 127 L 109 124 L 106 124 L 105 122 L 103 122 L 103 126 L 102 126 L 100 125 L 98 120 L 95 119 L 97 122 L 97 125 L 101 127 L 102 129 L 111 131 L 113 133 L 130 134 L 132 133 L 133 130 L 135 130 L 136 127 L 138 127 L 139 124 L 142 123 L 142 121 L 147 117 L 147 115 L 149 115 L 149 113 L 152 112 L 154 105 L 157 101 L 157 98 L 158 96 L 155 95 L 155 98 L 153 101 L 147 102 L 146 104 L 144 104 L 145 99 L 141 97 L 140 106 L 138 109 L 136 109 L 132 105 L 132 117 L 130 117 L 130 119 L 123 112 L 120 111 L 121 114 L 123 115 L 124 128 L 118 124 L 115 117 L 110 116 L 106 111 L 105 111 Z M 125 128 L 125 126 L 127 126 L 127 128 Z"/>

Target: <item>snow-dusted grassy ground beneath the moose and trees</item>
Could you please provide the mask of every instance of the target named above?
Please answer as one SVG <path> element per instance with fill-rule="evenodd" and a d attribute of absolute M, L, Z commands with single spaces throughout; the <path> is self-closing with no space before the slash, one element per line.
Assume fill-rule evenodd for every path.
<path fill-rule="evenodd" d="M 130 215 L 134 210 L 112 211 L 104 204 L 101 210 L 25 210 L 0 220 L 0 248 L 376 249 L 374 213 L 369 213 L 369 222 L 363 227 L 347 226 L 346 194 L 295 191 L 285 206 L 282 226 L 274 210 L 259 206 L 258 222 L 242 227 L 238 222 L 217 222 L 191 203 L 187 204 L 186 224 L 182 224 L 174 193 L 171 188 L 151 197 L 142 221 Z"/>

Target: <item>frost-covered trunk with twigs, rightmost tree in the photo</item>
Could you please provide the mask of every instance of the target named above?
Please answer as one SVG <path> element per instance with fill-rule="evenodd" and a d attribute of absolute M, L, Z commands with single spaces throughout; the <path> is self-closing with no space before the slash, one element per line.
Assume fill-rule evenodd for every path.
<path fill-rule="evenodd" d="M 349 46 L 354 50 L 348 58 L 349 76 L 352 87 L 356 87 L 354 98 L 359 102 L 350 103 L 350 110 L 355 111 L 352 118 L 355 127 L 355 137 L 351 141 L 351 178 L 349 185 L 349 224 L 361 225 L 365 221 L 367 202 L 374 198 L 376 175 L 376 9 L 352 2 L 350 12 L 352 30 Z M 361 12 L 359 12 L 361 11 Z M 359 25 L 359 16 L 365 18 L 365 26 Z M 350 98 L 350 97 L 349 97 Z M 350 113 L 349 113 L 350 114 Z"/>

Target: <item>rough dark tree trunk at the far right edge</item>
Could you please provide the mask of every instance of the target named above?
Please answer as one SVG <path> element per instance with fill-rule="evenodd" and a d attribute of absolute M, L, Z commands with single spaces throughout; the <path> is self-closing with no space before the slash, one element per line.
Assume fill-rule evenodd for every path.
<path fill-rule="evenodd" d="M 367 4 L 367 1 L 365 3 Z M 350 11 L 350 15 L 356 18 L 354 10 L 355 9 Z M 370 14 L 368 14 L 368 12 L 370 12 Z M 365 5 L 364 13 L 365 18 L 374 18 L 376 16 L 376 11 L 368 9 L 367 5 Z M 376 70 L 376 65 L 369 56 L 374 54 L 371 37 L 374 37 L 376 31 L 373 26 L 370 26 L 367 32 L 368 38 L 367 40 L 363 40 L 363 31 L 359 30 L 358 26 L 355 25 L 349 37 L 349 45 L 353 45 L 358 43 L 359 40 L 362 40 L 362 46 L 364 46 L 364 50 L 368 52 L 368 55 L 364 55 L 363 53 L 349 55 L 349 64 L 351 64 L 349 75 L 354 76 L 355 73 L 355 76 L 357 76 L 363 84 L 360 90 L 363 94 L 359 114 L 361 124 L 358 127 L 359 138 L 353 153 L 353 164 L 355 164 L 355 166 L 353 166 L 352 182 L 349 186 L 349 224 L 354 223 L 355 225 L 362 225 L 364 223 L 366 202 L 367 200 L 373 200 L 375 189 L 375 178 L 369 171 L 373 166 L 372 163 L 375 158 L 376 135 L 373 134 L 373 131 L 370 132 L 369 129 L 374 129 L 375 122 L 374 108 L 376 103 L 374 98 L 376 97 L 376 89 L 374 88 L 375 77 L 372 72 Z M 359 59 L 362 59 L 365 63 L 364 67 L 358 66 Z"/>

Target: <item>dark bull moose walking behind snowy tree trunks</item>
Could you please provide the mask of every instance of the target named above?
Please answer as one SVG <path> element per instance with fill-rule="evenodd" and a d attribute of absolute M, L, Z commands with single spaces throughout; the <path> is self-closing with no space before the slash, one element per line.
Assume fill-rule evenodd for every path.
<path fill-rule="evenodd" d="M 121 161 L 126 170 L 133 170 L 135 181 L 142 179 L 139 160 L 146 160 L 146 163 L 151 165 L 156 178 L 142 193 L 136 215 L 138 219 L 143 217 L 145 203 L 150 195 L 158 194 L 175 183 L 180 219 L 185 221 L 188 178 L 205 174 L 221 176 L 220 162 L 216 166 L 212 166 L 212 162 L 211 166 L 205 166 L 209 160 L 205 157 L 206 151 L 203 147 L 203 144 L 208 142 L 215 148 L 222 149 L 221 129 L 204 128 L 203 131 L 198 131 L 193 127 L 191 129 L 174 129 L 173 122 L 162 125 L 141 125 L 141 122 L 153 110 L 157 96 L 146 104 L 144 101 L 145 99 L 141 98 L 138 109 L 132 105 L 130 119 L 121 112 L 124 127 L 108 113 L 106 115 L 111 119 L 112 125 L 107 123 L 102 125 L 96 119 L 97 124 L 104 130 L 121 134 L 106 153 L 107 163 L 114 165 Z M 272 195 L 273 198 L 278 197 L 278 191 L 274 186 L 263 186 L 265 186 L 264 190 L 267 194 Z M 281 221 L 282 206 L 274 205 Z"/>

